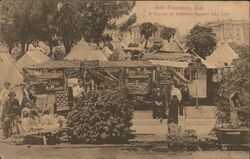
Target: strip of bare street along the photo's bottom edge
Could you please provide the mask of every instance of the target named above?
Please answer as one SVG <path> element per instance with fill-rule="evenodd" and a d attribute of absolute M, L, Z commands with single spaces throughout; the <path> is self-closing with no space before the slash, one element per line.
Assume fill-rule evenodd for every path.
<path fill-rule="evenodd" d="M 2 159 L 248 159 L 246 151 L 168 152 L 166 147 L 16 146 L 0 144 Z"/>

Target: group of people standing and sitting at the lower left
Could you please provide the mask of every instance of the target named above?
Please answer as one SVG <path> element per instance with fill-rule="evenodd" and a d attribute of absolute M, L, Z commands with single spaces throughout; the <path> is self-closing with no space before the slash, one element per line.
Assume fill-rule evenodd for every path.
<path fill-rule="evenodd" d="M 51 116 L 46 108 L 39 113 L 34 106 L 36 97 L 25 83 L 20 84 L 20 89 L 16 91 L 11 90 L 10 86 L 9 82 L 5 82 L 0 92 L 0 128 L 5 138 L 14 132 L 20 134 L 60 126 L 65 121 L 61 116 Z"/>

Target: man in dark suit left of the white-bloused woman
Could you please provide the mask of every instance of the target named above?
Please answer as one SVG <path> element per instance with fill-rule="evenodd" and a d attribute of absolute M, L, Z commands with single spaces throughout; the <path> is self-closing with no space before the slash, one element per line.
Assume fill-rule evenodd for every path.
<path fill-rule="evenodd" d="M 164 105 L 165 105 L 165 96 L 161 92 L 161 89 L 156 88 L 156 92 L 153 93 L 153 118 L 161 118 L 164 113 Z"/>

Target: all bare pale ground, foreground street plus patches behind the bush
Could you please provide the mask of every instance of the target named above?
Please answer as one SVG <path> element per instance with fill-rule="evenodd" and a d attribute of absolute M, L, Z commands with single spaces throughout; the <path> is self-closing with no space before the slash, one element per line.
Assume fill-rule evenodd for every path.
<path fill-rule="evenodd" d="M 166 139 L 166 120 L 152 119 L 151 111 L 136 111 L 133 118 L 135 139 L 127 145 L 12 145 L 0 139 L 0 159 L 248 159 L 247 151 L 169 152 L 163 144 L 149 144 Z M 199 137 L 207 136 L 215 119 L 188 119 L 186 129 Z"/>

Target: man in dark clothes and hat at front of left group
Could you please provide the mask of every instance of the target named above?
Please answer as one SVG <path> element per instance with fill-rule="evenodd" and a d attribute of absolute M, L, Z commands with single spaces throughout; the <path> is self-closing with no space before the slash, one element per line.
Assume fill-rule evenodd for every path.
<path fill-rule="evenodd" d="M 3 122 L 3 134 L 6 138 L 8 138 L 11 133 L 11 123 L 20 114 L 20 106 L 18 100 L 16 99 L 16 93 L 10 91 L 8 96 L 9 99 L 4 103 L 1 117 Z"/>

